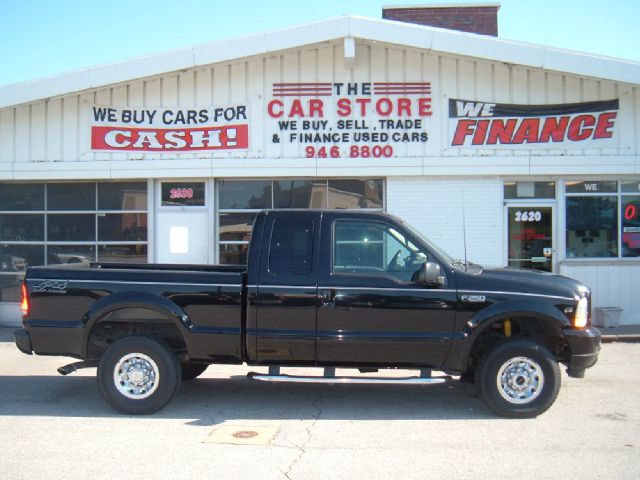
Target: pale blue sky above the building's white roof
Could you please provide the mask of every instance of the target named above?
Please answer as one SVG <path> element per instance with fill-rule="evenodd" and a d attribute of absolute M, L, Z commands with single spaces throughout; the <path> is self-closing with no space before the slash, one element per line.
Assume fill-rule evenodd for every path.
<path fill-rule="evenodd" d="M 412 3 L 444 2 L 0 0 L 0 85 L 347 14 L 381 18 L 382 5 Z M 500 3 L 502 38 L 640 61 L 638 0 Z"/>

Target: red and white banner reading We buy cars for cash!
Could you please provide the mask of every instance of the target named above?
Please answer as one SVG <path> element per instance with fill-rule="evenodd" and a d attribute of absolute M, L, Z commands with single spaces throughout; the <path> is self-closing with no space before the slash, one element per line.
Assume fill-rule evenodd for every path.
<path fill-rule="evenodd" d="M 124 108 L 94 105 L 91 149 L 176 153 L 249 148 L 244 105 L 209 108 Z"/>

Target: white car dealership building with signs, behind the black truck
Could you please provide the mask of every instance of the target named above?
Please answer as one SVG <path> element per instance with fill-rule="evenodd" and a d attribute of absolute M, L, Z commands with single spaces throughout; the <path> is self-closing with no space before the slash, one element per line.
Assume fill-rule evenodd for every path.
<path fill-rule="evenodd" d="M 29 265 L 243 263 L 264 208 L 384 210 L 640 324 L 640 63 L 500 39 L 498 9 L 389 7 L 0 87 L 0 324 Z"/>

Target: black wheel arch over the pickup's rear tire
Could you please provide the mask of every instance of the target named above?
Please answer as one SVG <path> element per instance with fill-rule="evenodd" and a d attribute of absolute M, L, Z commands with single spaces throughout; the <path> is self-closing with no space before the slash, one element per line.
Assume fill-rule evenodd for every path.
<path fill-rule="evenodd" d="M 87 358 L 99 359 L 109 345 L 130 335 L 159 338 L 178 358 L 188 356 L 184 337 L 169 318 L 145 308 L 122 308 L 109 312 L 93 325 L 87 338 Z"/>

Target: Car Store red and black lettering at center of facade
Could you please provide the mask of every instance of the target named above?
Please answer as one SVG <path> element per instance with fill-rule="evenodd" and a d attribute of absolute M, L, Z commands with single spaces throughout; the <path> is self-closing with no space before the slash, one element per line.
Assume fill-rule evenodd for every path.
<path fill-rule="evenodd" d="M 308 158 L 392 157 L 429 139 L 430 82 L 274 83 L 266 105 L 272 143 Z"/>

